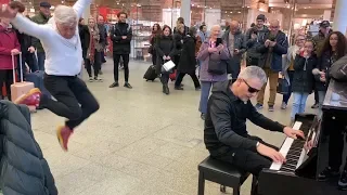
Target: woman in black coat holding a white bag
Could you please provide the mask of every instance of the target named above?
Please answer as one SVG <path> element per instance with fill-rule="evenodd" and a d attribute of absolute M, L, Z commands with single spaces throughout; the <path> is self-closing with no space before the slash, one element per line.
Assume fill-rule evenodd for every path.
<path fill-rule="evenodd" d="M 169 94 L 170 90 L 168 87 L 170 72 L 165 72 L 163 64 L 174 60 L 176 54 L 176 43 L 172 37 L 172 30 L 169 26 L 163 27 L 163 34 L 156 40 L 156 73 L 160 76 L 160 81 L 163 83 L 163 93 Z"/>

